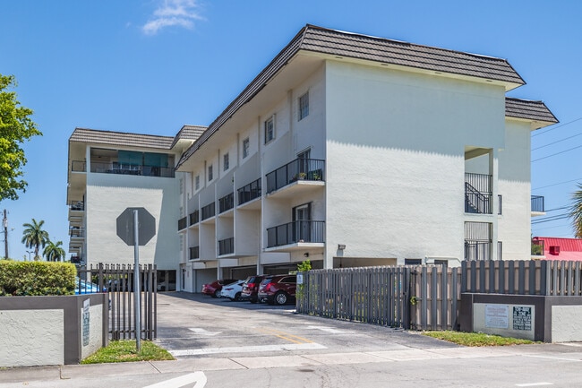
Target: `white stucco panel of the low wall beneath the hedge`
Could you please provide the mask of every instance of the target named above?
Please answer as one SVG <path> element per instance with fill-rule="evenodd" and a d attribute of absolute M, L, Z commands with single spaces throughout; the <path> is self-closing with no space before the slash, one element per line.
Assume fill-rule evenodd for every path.
<path fill-rule="evenodd" d="M 64 311 L 0 311 L 0 367 L 64 364 Z"/>

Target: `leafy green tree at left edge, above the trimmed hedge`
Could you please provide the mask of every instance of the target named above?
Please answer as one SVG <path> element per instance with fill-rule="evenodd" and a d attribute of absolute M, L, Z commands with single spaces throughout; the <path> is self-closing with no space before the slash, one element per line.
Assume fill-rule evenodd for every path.
<path fill-rule="evenodd" d="M 18 192 L 26 191 L 21 179 L 26 164 L 21 143 L 32 136 L 42 135 L 37 125 L 30 119 L 32 110 L 21 107 L 16 92 L 6 91 L 15 87 L 13 75 L 0 74 L 0 201 L 18 199 Z"/>

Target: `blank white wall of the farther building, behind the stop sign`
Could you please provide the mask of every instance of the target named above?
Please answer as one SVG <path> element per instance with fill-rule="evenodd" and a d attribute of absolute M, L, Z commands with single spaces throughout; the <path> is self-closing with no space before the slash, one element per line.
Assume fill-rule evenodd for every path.
<path fill-rule="evenodd" d="M 158 270 L 177 270 L 179 198 L 177 179 L 88 174 L 88 263 L 133 263 L 133 246 L 117 237 L 116 220 L 128 207 L 143 207 L 156 219 L 156 236 L 140 246 L 140 263 L 155 263 Z"/>

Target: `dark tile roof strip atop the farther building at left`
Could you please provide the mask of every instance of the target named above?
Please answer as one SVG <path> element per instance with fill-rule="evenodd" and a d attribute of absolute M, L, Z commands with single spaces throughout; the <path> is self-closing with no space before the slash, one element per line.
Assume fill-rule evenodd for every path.
<path fill-rule="evenodd" d="M 129 134 L 88 128 L 75 128 L 69 142 L 91 142 L 97 144 L 123 145 L 131 147 L 157 148 L 169 150 L 174 136 L 154 134 Z"/>

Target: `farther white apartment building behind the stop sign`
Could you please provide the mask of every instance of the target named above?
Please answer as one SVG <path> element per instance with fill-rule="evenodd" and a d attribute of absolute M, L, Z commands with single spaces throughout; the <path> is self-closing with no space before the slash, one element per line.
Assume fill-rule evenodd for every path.
<path fill-rule="evenodd" d="M 156 264 L 158 280 L 175 284 L 184 175 L 175 173 L 175 161 L 205 129 L 184 125 L 175 137 L 73 131 L 67 188 L 73 263 L 133 265 L 133 246 L 117 236 L 116 220 L 128 207 L 143 207 L 156 220 L 156 236 L 140 247 L 140 263 Z"/>

